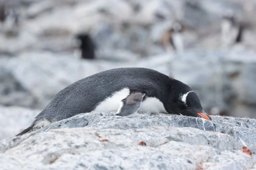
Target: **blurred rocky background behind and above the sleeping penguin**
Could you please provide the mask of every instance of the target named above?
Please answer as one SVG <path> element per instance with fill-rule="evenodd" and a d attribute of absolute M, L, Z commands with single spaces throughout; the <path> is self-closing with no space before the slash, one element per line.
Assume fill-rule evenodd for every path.
<path fill-rule="evenodd" d="M 1 0 L 1 124 L 118 67 L 187 83 L 209 114 L 256 118 L 255 16 L 255 0 Z"/>

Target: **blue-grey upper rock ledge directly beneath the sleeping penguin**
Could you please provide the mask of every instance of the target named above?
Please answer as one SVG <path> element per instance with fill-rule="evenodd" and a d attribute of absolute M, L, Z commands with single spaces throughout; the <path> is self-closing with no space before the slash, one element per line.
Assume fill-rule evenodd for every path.
<path fill-rule="evenodd" d="M 79 120 L 80 119 L 80 120 Z M 256 136 L 256 120 L 246 118 L 234 118 L 234 117 L 221 117 L 213 116 L 213 121 L 206 121 L 201 118 L 186 117 L 182 115 L 168 115 L 168 114 L 133 114 L 128 117 L 115 116 L 115 113 L 100 113 L 100 114 L 79 114 L 68 119 L 58 121 L 50 126 L 41 128 L 37 132 L 48 131 L 53 128 L 61 127 L 74 127 L 76 122 L 85 122 L 86 127 L 100 127 L 100 128 L 114 128 L 114 129 L 130 129 L 130 128 L 144 128 L 147 126 L 171 126 L 171 127 L 194 127 L 203 131 L 215 131 L 219 133 L 229 134 L 234 137 L 236 142 L 231 140 L 230 144 L 226 147 L 232 147 L 232 145 L 238 144 L 238 148 L 242 148 L 243 145 L 256 147 L 254 141 Z M 86 121 L 85 121 L 86 120 Z M 86 122 L 89 122 L 88 124 Z M 81 125 L 79 125 L 81 127 Z M 246 135 L 246 133 L 248 135 Z M 182 137 L 184 139 L 184 137 Z M 173 139 L 174 140 L 174 139 Z M 200 143 L 206 141 L 193 141 L 193 139 L 187 139 L 186 142 Z M 226 139 L 224 141 L 229 141 Z M 179 141 L 179 140 L 177 140 Z M 233 142 L 233 143 L 232 143 Z M 221 141 L 215 141 L 212 145 L 226 145 L 225 142 L 221 144 Z M 255 148 L 256 149 L 256 148 Z"/>

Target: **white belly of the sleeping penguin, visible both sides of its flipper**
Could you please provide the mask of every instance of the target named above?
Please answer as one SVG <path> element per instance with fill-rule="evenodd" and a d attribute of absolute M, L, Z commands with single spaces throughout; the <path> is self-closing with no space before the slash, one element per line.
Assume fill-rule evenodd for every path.
<path fill-rule="evenodd" d="M 92 112 L 117 111 L 120 106 L 120 101 L 126 98 L 129 94 L 130 89 L 123 88 L 111 97 L 102 101 L 94 110 L 92 110 Z M 138 112 L 167 113 L 162 102 L 155 97 L 147 97 L 146 100 L 141 103 Z"/>

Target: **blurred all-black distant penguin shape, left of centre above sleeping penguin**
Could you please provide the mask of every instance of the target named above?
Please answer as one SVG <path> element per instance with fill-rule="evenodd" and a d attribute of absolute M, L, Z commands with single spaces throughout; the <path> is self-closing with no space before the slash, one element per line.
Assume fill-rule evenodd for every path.
<path fill-rule="evenodd" d="M 79 41 L 80 57 L 82 59 L 95 58 L 95 45 L 89 34 L 78 34 L 76 39 Z"/>

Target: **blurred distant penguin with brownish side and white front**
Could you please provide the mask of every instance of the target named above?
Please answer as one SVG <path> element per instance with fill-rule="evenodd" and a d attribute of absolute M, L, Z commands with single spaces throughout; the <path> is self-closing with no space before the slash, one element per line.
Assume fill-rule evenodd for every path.
<path fill-rule="evenodd" d="M 181 52 L 184 50 L 183 31 L 183 25 L 179 22 L 174 22 L 172 27 L 164 32 L 161 44 L 165 46 L 167 51 L 175 50 Z"/>

